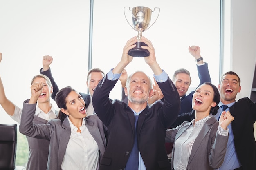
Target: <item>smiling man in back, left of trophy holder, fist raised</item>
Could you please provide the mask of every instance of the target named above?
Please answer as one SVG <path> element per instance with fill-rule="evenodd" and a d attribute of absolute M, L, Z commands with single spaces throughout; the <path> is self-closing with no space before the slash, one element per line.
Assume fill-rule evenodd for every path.
<path fill-rule="evenodd" d="M 53 61 L 53 58 L 51 56 L 49 55 L 43 56 L 43 68 L 40 69 L 40 73 L 43 75 L 46 75 L 51 80 L 52 87 L 53 87 L 52 99 L 55 100 L 55 96 L 56 96 L 56 93 L 59 91 L 59 88 L 52 76 L 52 72 L 50 68 L 50 64 L 52 64 L 52 61 Z M 87 73 L 86 85 L 88 87 L 90 94 L 79 92 L 79 94 L 83 97 L 83 100 L 85 101 L 87 115 L 92 115 L 94 113 L 94 108 L 92 106 L 92 96 L 93 96 L 94 88 L 96 88 L 97 84 L 101 81 L 101 79 L 104 76 L 105 76 L 104 72 L 99 68 L 92 68 Z"/>

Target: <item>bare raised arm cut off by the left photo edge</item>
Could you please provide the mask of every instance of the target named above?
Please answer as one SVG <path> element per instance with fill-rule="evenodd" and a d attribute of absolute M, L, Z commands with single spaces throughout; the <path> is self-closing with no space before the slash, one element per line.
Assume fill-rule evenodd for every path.
<path fill-rule="evenodd" d="M 0 53 L 0 63 L 2 61 L 2 53 Z M 2 83 L 2 79 L 0 77 L 0 104 L 2 106 L 2 108 L 4 108 L 4 110 L 6 111 L 6 113 L 8 115 L 13 115 L 14 114 L 14 110 L 15 110 L 15 106 L 14 104 L 7 99 L 7 97 L 5 96 L 5 92 L 4 92 L 4 85 Z"/>

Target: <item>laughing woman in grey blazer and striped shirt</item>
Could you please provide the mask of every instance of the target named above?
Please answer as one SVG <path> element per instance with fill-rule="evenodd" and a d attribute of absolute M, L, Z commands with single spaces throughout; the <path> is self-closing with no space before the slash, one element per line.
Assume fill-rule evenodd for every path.
<path fill-rule="evenodd" d="M 174 142 L 171 168 L 174 170 L 213 170 L 224 160 L 227 141 L 227 126 L 234 117 L 225 111 L 219 122 L 217 113 L 220 94 L 218 88 L 207 82 L 193 94 L 192 112 L 195 119 L 166 131 L 166 142 Z"/>

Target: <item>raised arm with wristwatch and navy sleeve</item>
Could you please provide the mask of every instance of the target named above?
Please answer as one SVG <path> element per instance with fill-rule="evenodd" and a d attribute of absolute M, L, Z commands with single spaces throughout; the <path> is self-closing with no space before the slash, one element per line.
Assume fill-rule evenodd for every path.
<path fill-rule="evenodd" d="M 195 58 L 197 61 L 197 68 L 198 68 L 198 77 L 200 80 L 200 85 L 204 82 L 211 83 L 211 77 L 208 69 L 208 64 L 204 62 L 203 58 L 201 58 L 201 49 L 199 46 L 189 46 L 189 53 Z"/>

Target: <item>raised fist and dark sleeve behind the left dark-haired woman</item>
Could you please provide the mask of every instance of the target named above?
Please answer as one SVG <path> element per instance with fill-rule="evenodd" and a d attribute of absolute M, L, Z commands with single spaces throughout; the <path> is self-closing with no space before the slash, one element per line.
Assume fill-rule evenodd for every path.
<path fill-rule="evenodd" d="M 52 88 L 53 88 L 51 97 L 55 101 L 55 96 L 56 96 L 57 92 L 59 91 L 59 88 L 58 88 L 58 85 L 56 84 L 56 82 L 54 81 L 54 78 L 52 77 L 52 71 L 50 68 L 52 61 L 53 61 L 53 58 L 51 56 L 49 56 L 49 55 L 43 56 L 43 68 L 40 69 L 40 74 L 46 75 L 51 80 Z"/>

